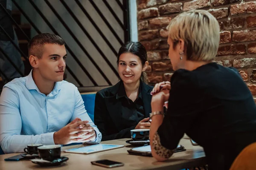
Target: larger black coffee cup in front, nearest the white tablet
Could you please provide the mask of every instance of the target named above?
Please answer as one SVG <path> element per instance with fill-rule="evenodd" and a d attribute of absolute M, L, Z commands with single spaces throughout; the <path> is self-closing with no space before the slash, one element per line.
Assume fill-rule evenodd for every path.
<path fill-rule="evenodd" d="M 41 159 L 47 161 L 53 161 L 61 157 L 61 145 L 52 144 L 52 145 L 43 145 L 38 147 L 38 155 Z"/>

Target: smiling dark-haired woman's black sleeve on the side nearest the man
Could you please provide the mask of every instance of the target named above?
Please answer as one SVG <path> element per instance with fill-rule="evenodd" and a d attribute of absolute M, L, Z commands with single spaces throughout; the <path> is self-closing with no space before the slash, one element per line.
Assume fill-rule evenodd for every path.
<path fill-rule="evenodd" d="M 118 132 L 106 108 L 104 96 L 99 92 L 95 96 L 94 123 L 102 133 L 102 141 L 131 138 L 130 130 L 136 127 L 135 125 Z"/>

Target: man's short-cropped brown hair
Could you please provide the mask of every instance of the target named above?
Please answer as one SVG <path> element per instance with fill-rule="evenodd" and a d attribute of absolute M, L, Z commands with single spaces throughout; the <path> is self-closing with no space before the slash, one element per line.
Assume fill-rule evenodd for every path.
<path fill-rule="evenodd" d="M 55 34 L 38 34 L 29 41 L 29 56 L 33 55 L 40 59 L 44 52 L 44 44 L 65 45 L 65 42 L 61 37 Z"/>

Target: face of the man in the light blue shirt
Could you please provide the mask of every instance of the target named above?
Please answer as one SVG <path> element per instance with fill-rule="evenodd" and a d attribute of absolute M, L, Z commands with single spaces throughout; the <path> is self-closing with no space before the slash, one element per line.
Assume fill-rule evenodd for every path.
<path fill-rule="evenodd" d="M 66 68 L 67 52 L 64 45 L 45 44 L 41 59 L 38 59 L 38 70 L 46 81 L 60 82 Z"/>

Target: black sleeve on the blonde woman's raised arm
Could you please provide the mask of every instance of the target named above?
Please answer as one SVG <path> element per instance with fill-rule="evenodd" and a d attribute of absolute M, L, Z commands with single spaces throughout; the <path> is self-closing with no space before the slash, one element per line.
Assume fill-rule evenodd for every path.
<path fill-rule="evenodd" d="M 169 108 L 157 132 L 161 144 L 169 150 L 177 147 L 184 133 L 202 111 L 204 95 L 198 89 L 196 77 L 178 70 L 171 79 Z"/>

